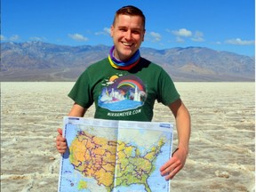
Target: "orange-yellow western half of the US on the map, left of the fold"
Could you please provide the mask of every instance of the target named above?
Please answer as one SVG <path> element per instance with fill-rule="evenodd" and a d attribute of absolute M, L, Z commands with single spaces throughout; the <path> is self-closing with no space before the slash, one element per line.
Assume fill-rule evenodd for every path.
<path fill-rule="evenodd" d="M 116 164 L 116 142 L 95 137 L 88 132 L 79 134 L 69 147 L 70 163 L 85 177 L 94 178 L 98 185 L 112 188 Z"/>

